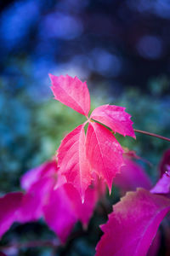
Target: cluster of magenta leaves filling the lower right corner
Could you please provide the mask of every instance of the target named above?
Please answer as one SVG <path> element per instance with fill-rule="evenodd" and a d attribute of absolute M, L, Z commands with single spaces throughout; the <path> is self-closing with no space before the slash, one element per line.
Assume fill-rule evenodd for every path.
<path fill-rule="evenodd" d="M 159 250 L 158 227 L 170 212 L 170 150 L 161 160 L 161 177 L 153 188 L 144 170 L 131 159 L 126 158 L 126 161 L 127 165 L 114 183 L 122 194 L 140 189 L 127 192 L 113 206 L 108 222 L 101 226 L 104 235 L 96 247 L 96 256 L 145 256 L 147 253 L 156 256 Z M 168 229 L 168 225 L 163 226 L 167 234 L 164 236 L 167 254 L 170 250 Z"/>

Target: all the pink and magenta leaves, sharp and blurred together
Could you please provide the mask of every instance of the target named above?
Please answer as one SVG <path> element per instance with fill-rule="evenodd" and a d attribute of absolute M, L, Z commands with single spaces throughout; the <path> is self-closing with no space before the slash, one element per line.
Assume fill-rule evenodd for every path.
<path fill-rule="evenodd" d="M 170 211 L 169 154 L 161 161 L 161 178 L 151 189 L 143 169 L 127 155 L 123 156 L 124 150 L 116 137 L 105 128 L 135 137 L 125 108 L 100 106 L 88 118 L 87 84 L 69 76 L 50 78 L 55 99 L 82 113 L 87 120 L 61 142 L 57 161 L 50 160 L 22 177 L 21 186 L 26 193 L 9 193 L 0 198 L 0 236 L 14 221 L 26 223 L 43 217 L 65 242 L 78 220 L 88 224 L 96 202 L 105 194 L 105 183 L 111 191 L 114 179 L 122 194 L 134 192 L 128 192 L 113 207 L 107 224 L 102 226 L 104 235 L 96 255 L 146 255 L 161 220 Z M 137 187 L 143 189 L 135 191 Z M 159 236 L 155 241 L 159 241 Z"/>

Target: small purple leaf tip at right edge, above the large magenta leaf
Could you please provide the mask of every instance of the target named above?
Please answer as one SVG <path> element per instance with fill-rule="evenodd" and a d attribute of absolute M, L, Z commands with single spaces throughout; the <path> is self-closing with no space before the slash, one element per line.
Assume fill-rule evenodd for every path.
<path fill-rule="evenodd" d="M 150 190 L 154 194 L 169 194 L 170 193 L 170 168 L 158 180 L 153 189 Z"/>

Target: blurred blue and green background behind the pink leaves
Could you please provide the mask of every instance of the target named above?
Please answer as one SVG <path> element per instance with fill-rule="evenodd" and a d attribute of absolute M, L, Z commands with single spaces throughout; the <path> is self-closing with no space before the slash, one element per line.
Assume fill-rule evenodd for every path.
<path fill-rule="evenodd" d="M 126 107 L 136 129 L 170 137 L 168 0 L 6 0 L 0 9 L 1 195 L 19 190 L 20 176 L 48 160 L 83 120 L 54 101 L 48 73 L 77 75 L 88 82 L 92 109 L 106 103 Z M 117 138 L 150 161 L 140 164 L 155 183 L 169 144 L 139 134 L 136 141 Z M 98 229 L 100 236 L 101 223 L 96 214 L 89 230 Z M 94 255 L 99 236 L 89 234 L 59 255 Z M 16 225 L 2 243 L 40 235 L 54 237 L 42 222 Z M 50 249 L 17 253 L 9 255 L 50 255 Z"/>

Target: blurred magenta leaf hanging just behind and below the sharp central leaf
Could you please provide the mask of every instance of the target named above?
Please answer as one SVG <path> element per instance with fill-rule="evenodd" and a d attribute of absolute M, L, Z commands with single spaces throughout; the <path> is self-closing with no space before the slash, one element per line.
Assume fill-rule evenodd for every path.
<path fill-rule="evenodd" d="M 94 189 L 87 189 L 85 202 L 82 204 L 77 189 L 69 183 L 63 185 L 63 176 L 58 170 L 54 160 L 24 175 L 22 182 L 27 184 L 27 192 L 21 202 L 18 221 L 26 223 L 44 217 L 49 228 L 65 242 L 78 219 L 83 224 L 88 224 L 94 211 L 97 200 L 96 188 L 98 189 L 99 185 Z"/>

